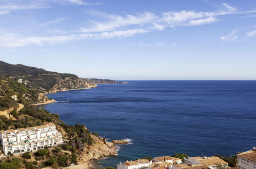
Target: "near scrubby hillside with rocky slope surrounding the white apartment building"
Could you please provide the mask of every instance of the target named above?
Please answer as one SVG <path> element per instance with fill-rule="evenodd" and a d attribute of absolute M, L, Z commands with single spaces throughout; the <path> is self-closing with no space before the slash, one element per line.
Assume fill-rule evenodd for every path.
<path fill-rule="evenodd" d="M 41 168 L 53 166 L 53 161 L 60 167 L 75 163 L 81 164 L 81 168 L 91 168 L 90 160 L 116 155 L 114 143 L 107 142 L 96 133 L 92 134 L 85 125 L 66 125 L 57 114 L 32 105 L 38 102 L 41 92 L 39 87 L 28 87 L 12 78 L 0 76 L 0 130 L 28 128 L 53 122 L 66 140 L 65 144 L 53 148 L 45 147 L 47 156 L 27 153 L 26 156 L 19 156 L 21 159 L 12 155 L 2 158 L 0 168 Z"/>

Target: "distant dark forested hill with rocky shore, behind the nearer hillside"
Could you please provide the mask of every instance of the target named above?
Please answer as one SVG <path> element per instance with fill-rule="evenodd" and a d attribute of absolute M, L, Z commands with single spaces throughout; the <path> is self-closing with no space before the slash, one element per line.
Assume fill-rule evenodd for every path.
<path fill-rule="evenodd" d="M 11 65 L 4 61 L 0 61 L 0 76 L 22 79 L 24 83 L 41 87 L 45 92 L 93 87 L 73 74 L 49 72 L 21 64 Z"/>

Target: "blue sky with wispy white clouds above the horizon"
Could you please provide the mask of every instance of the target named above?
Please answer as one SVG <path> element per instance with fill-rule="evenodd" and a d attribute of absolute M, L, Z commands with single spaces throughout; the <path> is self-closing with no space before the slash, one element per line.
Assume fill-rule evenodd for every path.
<path fill-rule="evenodd" d="M 256 1 L 0 0 L 0 60 L 87 78 L 256 79 Z"/>

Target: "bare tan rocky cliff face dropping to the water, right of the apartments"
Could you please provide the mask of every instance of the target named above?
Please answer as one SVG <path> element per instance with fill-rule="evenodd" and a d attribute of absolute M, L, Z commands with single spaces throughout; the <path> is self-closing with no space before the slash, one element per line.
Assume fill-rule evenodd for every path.
<path fill-rule="evenodd" d="M 114 143 L 106 141 L 105 138 L 91 135 L 94 140 L 93 145 L 86 146 L 81 155 L 77 158 L 78 163 L 84 165 L 84 168 L 94 168 L 92 160 L 104 157 L 117 156 L 117 147 Z"/>

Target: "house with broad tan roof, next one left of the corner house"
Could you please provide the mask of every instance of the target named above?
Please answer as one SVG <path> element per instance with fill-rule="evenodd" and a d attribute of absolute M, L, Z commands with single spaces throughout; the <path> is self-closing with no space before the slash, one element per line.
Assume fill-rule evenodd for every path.
<path fill-rule="evenodd" d="M 227 167 L 228 163 L 219 157 L 189 157 L 184 158 L 185 164 L 204 164 L 208 168 L 216 169 L 218 166 Z"/>

